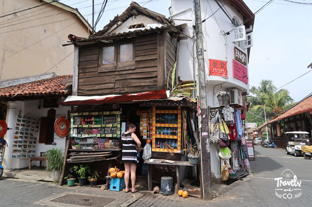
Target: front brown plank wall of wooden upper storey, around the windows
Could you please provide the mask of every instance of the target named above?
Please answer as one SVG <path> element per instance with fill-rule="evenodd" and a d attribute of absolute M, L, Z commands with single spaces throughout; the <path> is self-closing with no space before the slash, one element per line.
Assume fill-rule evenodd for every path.
<path fill-rule="evenodd" d="M 100 45 L 82 46 L 79 52 L 78 95 L 128 94 L 164 89 L 158 86 L 157 34 L 134 40 L 135 68 L 99 72 Z"/>

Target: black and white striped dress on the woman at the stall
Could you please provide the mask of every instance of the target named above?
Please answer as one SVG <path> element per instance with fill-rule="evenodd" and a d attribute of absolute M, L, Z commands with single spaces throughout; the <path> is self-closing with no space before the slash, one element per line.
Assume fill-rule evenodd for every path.
<path fill-rule="evenodd" d="M 137 145 L 136 142 L 131 138 L 131 132 L 125 133 L 121 136 L 122 143 L 122 163 L 134 163 L 137 164 L 139 161 L 137 159 L 137 149 L 134 145 Z M 129 143 L 128 141 L 131 143 Z"/>

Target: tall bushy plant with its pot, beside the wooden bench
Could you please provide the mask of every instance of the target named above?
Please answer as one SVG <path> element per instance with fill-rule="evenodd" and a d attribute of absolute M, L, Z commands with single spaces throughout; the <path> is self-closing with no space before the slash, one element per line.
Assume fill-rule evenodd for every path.
<path fill-rule="evenodd" d="M 61 148 L 49 149 L 46 153 L 47 166 L 46 170 L 51 171 L 53 182 L 58 182 L 60 178 L 60 171 L 63 167 L 64 152 Z"/>

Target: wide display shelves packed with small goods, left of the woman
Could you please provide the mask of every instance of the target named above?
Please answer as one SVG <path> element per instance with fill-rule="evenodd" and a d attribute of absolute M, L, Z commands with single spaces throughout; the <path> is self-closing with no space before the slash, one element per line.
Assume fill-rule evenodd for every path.
<path fill-rule="evenodd" d="M 120 111 L 70 113 L 70 136 L 79 149 L 119 148 Z"/>

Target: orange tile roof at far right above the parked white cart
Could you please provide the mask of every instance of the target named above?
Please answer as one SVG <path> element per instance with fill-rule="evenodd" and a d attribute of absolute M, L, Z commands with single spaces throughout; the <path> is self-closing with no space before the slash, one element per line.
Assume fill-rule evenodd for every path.
<path fill-rule="evenodd" d="M 293 106 L 288 111 L 286 111 L 282 115 L 276 117 L 272 121 L 269 121 L 268 124 L 279 121 L 279 120 L 286 119 L 290 116 L 302 114 L 302 113 L 305 113 L 305 112 L 311 111 L 311 110 L 312 110 L 312 96 L 310 96 L 310 97 L 304 99 L 303 101 L 299 102 L 297 105 Z"/>

